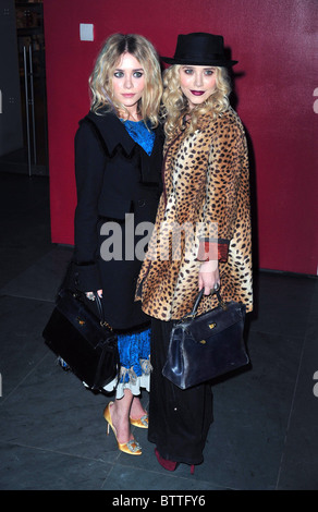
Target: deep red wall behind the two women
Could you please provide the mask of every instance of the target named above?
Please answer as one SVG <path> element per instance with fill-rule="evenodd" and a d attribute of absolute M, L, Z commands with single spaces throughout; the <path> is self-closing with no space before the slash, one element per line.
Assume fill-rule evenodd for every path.
<path fill-rule="evenodd" d="M 73 139 L 89 108 L 87 80 L 114 32 L 148 37 L 162 56 L 176 35 L 222 34 L 235 108 L 250 144 L 255 263 L 317 273 L 317 0 L 44 0 L 52 242 L 73 243 Z M 80 23 L 95 25 L 93 42 Z M 316 135 L 316 136 L 315 136 Z M 314 138 L 315 136 L 315 138 Z"/>

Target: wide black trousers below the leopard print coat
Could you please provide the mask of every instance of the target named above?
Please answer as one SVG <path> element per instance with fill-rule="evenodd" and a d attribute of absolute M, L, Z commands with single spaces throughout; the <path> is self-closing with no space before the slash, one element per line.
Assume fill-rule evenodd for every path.
<path fill-rule="evenodd" d="M 212 422 L 209 383 L 181 390 L 162 375 L 173 321 L 151 320 L 148 439 L 161 456 L 186 464 L 203 462 Z"/>

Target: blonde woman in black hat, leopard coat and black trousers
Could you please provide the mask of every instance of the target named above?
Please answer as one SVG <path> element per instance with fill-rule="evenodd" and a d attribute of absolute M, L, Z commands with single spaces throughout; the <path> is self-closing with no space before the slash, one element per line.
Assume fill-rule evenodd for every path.
<path fill-rule="evenodd" d="M 229 105 L 223 38 L 180 35 L 164 73 L 167 135 L 163 193 L 144 260 L 136 298 L 152 318 L 148 437 L 158 462 L 203 462 L 212 420 L 211 386 L 181 390 L 162 376 L 173 322 L 224 301 L 253 308 L 249 176 L 242 122 Z"/>

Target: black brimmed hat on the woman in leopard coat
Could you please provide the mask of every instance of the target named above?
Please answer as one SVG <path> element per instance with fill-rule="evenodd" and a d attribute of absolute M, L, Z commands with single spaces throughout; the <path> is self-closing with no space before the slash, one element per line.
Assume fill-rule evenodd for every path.
<path fill-rule="evenodd" d="M 237 63 L 229 60 L 224 53 L 224 41 L 222 36 L 215 36 L 205 32 L 193 34 L 180 34 L 173 58 L 162 57 L 168 64 L 188 65 L 217 65 L 230 68 Z"/>

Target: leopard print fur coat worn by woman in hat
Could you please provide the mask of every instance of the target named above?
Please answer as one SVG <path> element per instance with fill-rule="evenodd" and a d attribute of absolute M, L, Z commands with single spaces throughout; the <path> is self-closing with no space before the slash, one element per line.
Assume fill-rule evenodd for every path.
<path fill-rule="evenodd" d="M 221 296 L 253 309 L 248 154 L 237 113 L 205 114 L 166 141 L 163 193 L 137 281 L 143 310 L 161 320 L 192 310 L 203 260 L 219 259 Z M 212 254 L 212 256 L 211 256 Z M 198 313 L 218 304 L 205 295 Z"/>

